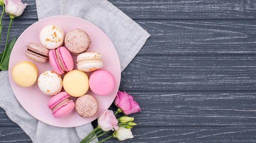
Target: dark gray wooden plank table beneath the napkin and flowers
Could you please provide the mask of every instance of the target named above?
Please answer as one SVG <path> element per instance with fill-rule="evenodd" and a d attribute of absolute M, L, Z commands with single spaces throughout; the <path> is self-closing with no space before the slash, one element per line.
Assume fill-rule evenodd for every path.
<path fill-rule="evenodd" d="M 23 1 L 10 39 L 38 21 Z M 123 143 L 256 142 L 256 0 L 109 1 L 151 35 L 121 73 L 141 106 Z M 31 142 L 2 108 L 0 142 Z"/>

